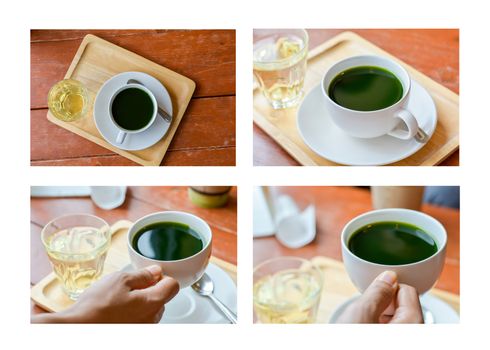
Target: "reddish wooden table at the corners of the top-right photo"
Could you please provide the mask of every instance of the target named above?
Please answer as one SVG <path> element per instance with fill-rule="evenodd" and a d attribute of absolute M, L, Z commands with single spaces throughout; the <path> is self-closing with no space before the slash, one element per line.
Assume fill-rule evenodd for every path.
<path fill-rule="evenodd" d="M 310 48 L 350 30 L 459 94 L 459 31 L 436 29 L 308 29 Z M 254 124 L 254 165 L 300 165 Z M 441 165 L 459 165 L 459 151 Z"/>

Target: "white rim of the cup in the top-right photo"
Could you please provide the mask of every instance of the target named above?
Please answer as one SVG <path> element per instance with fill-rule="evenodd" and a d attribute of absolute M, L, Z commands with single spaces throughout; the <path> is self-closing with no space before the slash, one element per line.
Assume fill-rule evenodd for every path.
<path fill-rule="evenodd" d="M 392 105 L 388 106 L 388 107 L 385 107 L 385 108 L 382 108 L 382 109 L 375 109 L 373 111 L 359 111 L 357 109 L 350 109 L 350 108 L 347 108 L 347 107 L 344 107 L 344 106 L 341 106 L 339 105 L 337 102 L 335 102 L 334 100 L 332 100 L 330 98 L 330 96 L 328 95 L 328 93 L 326 92 L 326 89 L 325 89 L 325 78 L 327 76 L 327 74 L 334 68 L 336 67 L 337 65 L 339 65 L 340 63 L 342 62 L 345 62 L 347 60 L 351 60 L 351 59 L 354 59 L 354 58 L 377 58 L 377 59 L 381 59 L 381 60 L 384 60 L 384 61 L 387 61 L 387 62 L 390 62 L 396 66 L 398 66 L 408 77 L 408 81 L 407 81 L 407 89 L 404 89 L 403 91 L 403 95 L 402 97 L 396 101 L 395 103 L 393 103 Z M 351 66 L 349 68 L 346 68 L 344 69 L 343 71 L 347 70 L 347 69 L 350 69 L 350 68 L 354 68 L 354 67 L 358 67 L 359 65 L 357 66 Z M 383 67 L 379 67 L 377 65 L 373 65 L 373 67 L 378 67 L 378 68 L 383 68 Z M 391 71 L 390 71 L 391 72 Z M 400 77 L 398 75 L 396 75 L 395 73 L 391 72 L 393 75 L 395 75 L 399 80 Z M 335 77 L 334 77 L 335 78 Z M 330 84 L 332 83 L 332 80 L 333 78 L 328 82 L 328 87 L 330 87 Z M 398 105 L 399 103 L 401 103 L 402 101 L 405 100 L 405 98 L 408 96 L 408 93 L 410 92 L 411 88 L 412 88 L 412 78 L 410 77 L 410 74 L 408 73 L 408 71 L 402 67 L 401 64 L 399 64 L 398 62 L 396 62 L 395 60 L 392 60 L 390 58 L 387 58 L 387 57 L 383 57 L 383 56 L 379 56 L 379 55 L 356 55 L 356 56 L 349 56 L 349 57 L 346 57 L 344 59 L 341 59 L 340 61 L 337 61 L 335 62 L 332 66 L 330 66 L 330 68 L 327 69 L 327 71 L 325 72 L 325 74 L 323 74 L 323 78 L 322 78 L 322 93 L 323 93 L 323 96 L 325 96 L 327 98 L 327 100 L 331 103 L 333 103 L 336 107 L 346 111 L 346 112 L 355 112 L 355 113 L 361 113 L 363 115 L 367 115 L 367 114 L 375 114 L 375 113 L 378 113 L 378 112 L 384 112 L 390 108 L 393 108 L 394 106 Z"/>

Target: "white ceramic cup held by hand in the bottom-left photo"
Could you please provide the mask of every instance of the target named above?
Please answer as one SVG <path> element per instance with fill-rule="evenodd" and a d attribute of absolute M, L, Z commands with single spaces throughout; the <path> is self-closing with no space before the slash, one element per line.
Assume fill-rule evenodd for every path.
<path fill-rule="evenodd" d="M 134 235 L 143 227 L 156 222 L 178 222 L 195 230 L 203 240 L 203 249 L 180 260 L 155 260 L 139 254 L 132 245 Z M 163 274 L 177 280 L 180 288 L 185 288 L 199 280 L 204 274 L 211 257 L 212 232 L 209 225 L 201 218 L 180 211 L 163 211 L 142 217 L 128 231 L 128 251 L 131 263 L 137 269 L 159 265 Z"/>

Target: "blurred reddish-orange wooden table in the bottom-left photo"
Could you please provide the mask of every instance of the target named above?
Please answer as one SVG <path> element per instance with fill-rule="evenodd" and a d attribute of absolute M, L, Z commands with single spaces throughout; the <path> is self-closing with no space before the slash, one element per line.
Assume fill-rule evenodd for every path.
<path fill-rule="evenodd" d="M 83 198 L 31 198 L 31 285 L 52 271 L 41 242 L 41 229 L 52 219 L 70 213 L 93 214 L 109 224 L 126 219 L 135 221 L 152 212 L 181 210 L 203 218 L 213 231 L 213 255 L 237 263 L 237 191 L 230 192 L 228 204 L 223 208 L 205 209 L 192 204 L 187 187 L 130 187 L 124 204 L 113 210 L 95 206 L 88 197 Z M 44 310 L 31 303 L 33 313 Z"/>

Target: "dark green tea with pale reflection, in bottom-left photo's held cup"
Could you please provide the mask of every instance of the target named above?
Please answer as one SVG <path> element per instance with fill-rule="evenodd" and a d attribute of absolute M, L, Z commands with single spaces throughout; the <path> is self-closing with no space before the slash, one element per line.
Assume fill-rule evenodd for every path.
<path fill-rule="evenodd" d="M 204 243 L 201 236 L 185 224 L 156 222 L 136 232 L 132 245 L 147 258 L 170 261 L 199 253 Z"/>

